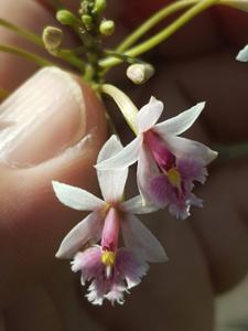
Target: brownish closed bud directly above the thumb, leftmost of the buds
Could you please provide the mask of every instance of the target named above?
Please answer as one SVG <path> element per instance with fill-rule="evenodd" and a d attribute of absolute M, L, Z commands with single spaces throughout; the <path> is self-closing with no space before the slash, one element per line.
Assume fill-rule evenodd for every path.
<path fill-rule="evenodd" d="M 42 40 L 45 45 L 45 49 L 50 53 L 55 53 L 56 50 L 61 46 L 63 40 L 63 32 L 61 29 L 54 26 L 46 26 L 43 30 Z"/>

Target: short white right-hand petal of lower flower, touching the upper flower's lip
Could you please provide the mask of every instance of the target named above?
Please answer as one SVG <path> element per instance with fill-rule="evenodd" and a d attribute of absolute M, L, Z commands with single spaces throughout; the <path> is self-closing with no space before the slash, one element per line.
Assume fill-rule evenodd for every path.
<path fill-rule="evenodd" d="M 159 210 L 159 207 L 145 204 L 141 195 L 137 195 L 121 204 L 125 212 L 130 214 L 149 214 Z"/>

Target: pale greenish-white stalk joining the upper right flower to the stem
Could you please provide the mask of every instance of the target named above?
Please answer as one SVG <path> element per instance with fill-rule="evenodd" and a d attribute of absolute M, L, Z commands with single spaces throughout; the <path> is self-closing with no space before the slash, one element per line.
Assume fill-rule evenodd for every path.
<path fill-rule="evenodd" d="M 101 92 L 109 95 L 122 113 L 127 124 L 129 125 L 130 129 L 137 135 L 137 114 L 138 109 L 133 105 L 132 100 L 119 88 L 110 84 L 101 85 Z"/>

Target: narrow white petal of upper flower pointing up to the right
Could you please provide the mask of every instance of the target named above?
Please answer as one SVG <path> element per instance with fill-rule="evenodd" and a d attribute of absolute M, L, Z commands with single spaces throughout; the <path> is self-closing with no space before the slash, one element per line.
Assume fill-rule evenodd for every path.
<path fill-rule="evenodd" d="M 168 135 L 181 135 L 194 124 L 204 107 L 205 103 L 200 103 L 180 115 L 158 124 L 154 130 L 162 137 L 164 135 L 166 137 Z"/>

